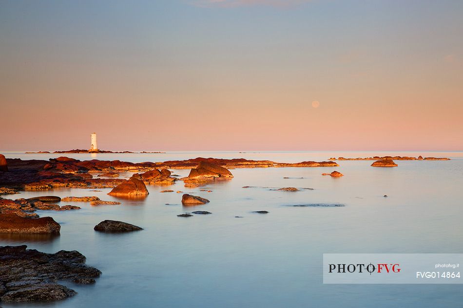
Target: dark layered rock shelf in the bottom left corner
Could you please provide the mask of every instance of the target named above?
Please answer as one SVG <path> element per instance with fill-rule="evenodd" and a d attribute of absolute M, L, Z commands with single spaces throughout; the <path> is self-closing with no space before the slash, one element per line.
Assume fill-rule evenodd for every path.
<path fill-rule="evenodd" d="M 53 301 L 71 297 L 76 291 L 54 281 L 95 281 L 101 272 L 85 265 L 77 251 L 41 253 L 22 246 L 0 247 L 0 295 L 3 302 Z"/>

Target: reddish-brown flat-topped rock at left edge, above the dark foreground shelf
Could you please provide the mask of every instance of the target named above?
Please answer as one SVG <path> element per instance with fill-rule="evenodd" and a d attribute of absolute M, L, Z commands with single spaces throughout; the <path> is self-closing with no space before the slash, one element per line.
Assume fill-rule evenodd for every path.
<path fill-rule="evenodd" d="M 52 217 L 24 218 L 0 214 L 0 233 L 59 233 L 61 226 Z"/>

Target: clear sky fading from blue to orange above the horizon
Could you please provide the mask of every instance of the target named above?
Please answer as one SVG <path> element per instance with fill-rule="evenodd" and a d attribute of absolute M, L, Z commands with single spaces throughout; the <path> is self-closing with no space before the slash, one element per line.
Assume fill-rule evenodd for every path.
<path fill-rule="evenodd" d="M 0 150 L 463 150 L 463 1 L 0 0 Z"/>

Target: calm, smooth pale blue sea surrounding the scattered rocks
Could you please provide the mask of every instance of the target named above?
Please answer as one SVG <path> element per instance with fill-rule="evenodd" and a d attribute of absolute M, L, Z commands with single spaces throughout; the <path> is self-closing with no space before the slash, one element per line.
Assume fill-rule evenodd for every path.
<path fill-rule="evenodd" d="M 370 167 L 371 161 L 341 161 L 336 168 L 232 169 L 231 181 L 207 185 L 212 192 L 149 186 L 141 201 L 92 207 L 61 202 L 78 211 L 39 211 L 61 224 L 60 236 L 40 240 L 0 236 L 0 245 L 26 244 L 55 253 L 77 250 L 103 272 L 95 285 L 67 284 L 78 294 L 50 304 L 6 307 L 462 307 L 463 285 L 324 285 L 324 253 L 463 253 L 463 153 L 436 152 L 169 152 L 165 154 L 23 154 L 7 158 L 161 162 L 194 157 L 266 159 L 276 162 L 327 160 L 372 155 L 444 156 L 451 161 L 397 161 L 395 168 Z M 345 176 L 331 178 L 323 172 Z M 186 176 L 189 170 L 173 170 Z M 130 176 L 123 173 L 121 176 Z M 284 179 L 288 177 L 289 179 Z M 243 186 L 256 186 L 242 188 Z M 281 187 L 313 188 L 298 192 Z M 181 195 L 211 202 L 183 207 Z M 39 195 L 108 196 L 110 189 L 23 192 Z M 387 198 L 383 196 L 387 195 Z M 295 204 L 344 207 L 292 207 Z M 167 205 L 169 204 L 169 205 Z M 212 215 L 177 217 L 194 210 Z M 252 211 L 267 210 L 269 214 Z M 236 218 L 240 216 L 241 218 Z M 104 219 L 144 228 L 128 234 L 102 234 Z"/>

